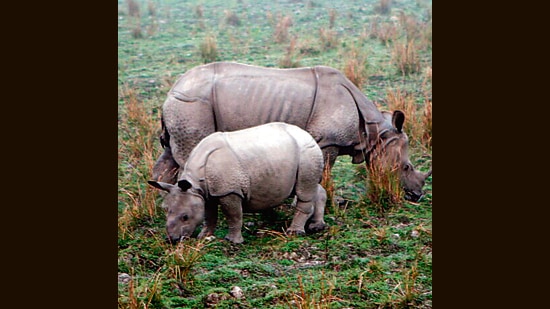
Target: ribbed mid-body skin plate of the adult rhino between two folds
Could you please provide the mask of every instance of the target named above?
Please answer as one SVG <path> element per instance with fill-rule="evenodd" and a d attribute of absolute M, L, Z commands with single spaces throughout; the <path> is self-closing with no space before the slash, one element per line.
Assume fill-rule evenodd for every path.
<path fill-rule="evenodd" d="M 213 88 L 216 124 L 221 131 L 276 121 L 306 128 L 315 93 L 315 74 L 308 68 L 224 66 L 217 71 Z"/>

